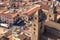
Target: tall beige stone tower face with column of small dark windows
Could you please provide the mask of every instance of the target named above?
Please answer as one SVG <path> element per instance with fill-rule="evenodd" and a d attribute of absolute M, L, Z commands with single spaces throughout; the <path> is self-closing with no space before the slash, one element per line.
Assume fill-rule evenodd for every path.
<path fill-rule="evenodd" d="M 39 23 L 39 14 L 38 14 L 38 10 L 35 12 L 34 14 L 34 18 L 32 21 L 32 38 L 31 40 L 39 40 L 39 31 L 40 31 L 40 23 Z"/>

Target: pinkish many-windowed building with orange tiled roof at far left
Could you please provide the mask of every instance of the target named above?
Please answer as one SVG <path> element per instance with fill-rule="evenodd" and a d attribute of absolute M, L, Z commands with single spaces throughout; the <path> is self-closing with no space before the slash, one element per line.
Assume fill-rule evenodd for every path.
<path fill-rule="evenodd" d="M 9 11 L 6 11 L 3 12 L 0 17 L 4 23 L 13 24 L 16 20 L 18 20 L 20 15 L 18 13 L 10 13 Z"/>

